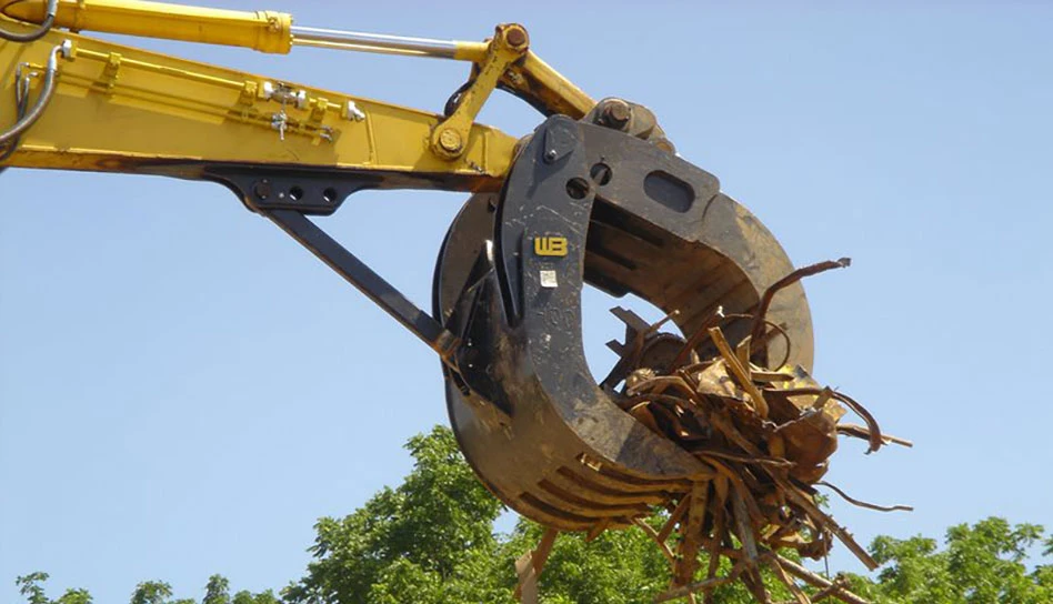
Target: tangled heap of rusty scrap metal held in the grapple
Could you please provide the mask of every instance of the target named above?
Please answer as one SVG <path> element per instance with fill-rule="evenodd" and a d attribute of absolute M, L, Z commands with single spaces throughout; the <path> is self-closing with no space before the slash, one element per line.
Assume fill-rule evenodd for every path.
<path fill-rule="evenodd" d="M 836 537 L 874 570 L 866 551 L 820 507 L 816 486 L 871 510 L 910 510 L 860 502 L 822 477 L 839 435 L 868 441 L 868 453 L 887 443 L 911 443 L 883 434 L 863 405 L 820 385 L 802 368 L 789 366 L 785 360 L 764 366 L 762 354 L 774 338 L 783 338 L 786 349 L 791 345 L 785 329 L 765 319 L 779 290 L 848 265 L 842 259 L 799 269 L 765 292 L 754 314 L 725 315 L 719 310 L 686 340 L 659 332 L 671 318 L 649 325 L 631 311 L 612 310 L 626 324 L 626 336 L 624 343 L 609 344 L 621 359 L 601 387 L 639 422 L 696 455 L 715 476 L 694 481 L 689 493 L 671 502 L 661 530 L 634 520 L 671 565 L 670 588 L 655 602 L 686 598 L 695 604 L 701 593 L 711 604 L 715 587 L 740 581 L 758 602 L 770 604 L 761 575 L 766 567 L 798 604 L 831 598 L 865 604 L 842 580 L 812 573 L 783 553 L 819 560 Z M 732 320 L 752 322 L 750 335 L 735 346 L 722 330 Z M 700 351 L 706 351 L 706 358 Z M 849 411 L 863 425 L 841 423 Z M 535 552 L 542 555 L 532 556 L 526 573 L 532 578 L 540 574 L 539 558 L 543 563 L 552 540 L 554 534 L 546 533 Z M 704 570 L 699 567 L 701 552 L 709 558 Z M 719 575 L 722 560 L 731 570 Z"/>

